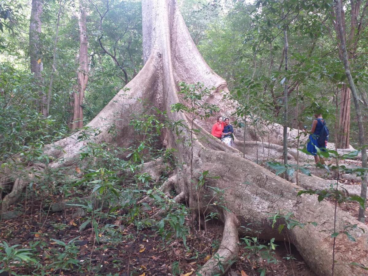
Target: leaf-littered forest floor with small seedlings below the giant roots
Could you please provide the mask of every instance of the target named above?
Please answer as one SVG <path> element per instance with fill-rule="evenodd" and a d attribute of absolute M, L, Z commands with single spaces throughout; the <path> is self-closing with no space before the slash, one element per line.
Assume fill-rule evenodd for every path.
<path fill-rule="evenodd" d="M 341 181 L 349 184 L 347 180 Z M 350 184 L 360 183 L 350 181 Z M 173 231 L 178 233 L 182 229 L 173 230 L 165 226 L 161 232 L 155 227 L 138 230 L 133 223 L 123 223 L 126 210 L 116 210 L 114 216 L 98 219 L 97 231 L 91 223 L 81 230 L 86 217 L 79 217 L 75 208 L 53 213 L 43 201 L 32 200 L 12 207 L 13 210 L 21 210 L 22 215 L 1 221 L 0 241 L 6 241 L 15 249 L 29 248 L 38 265 L 32 267 L 13 261 L 8 263 L 7 270 L 14 274 L 0 272 L 0 276 L 189 276 L 195 275 L 221 242 L 223 226 L 213 220 L 207 222 L 205 229 L 188 227 L 185 247 L 183 239 L 173 234 Z M 146 208 L 145 215 L 150 217 L 158 207 L 150 203 Z M 338 204 L 338 208 L 357 217 L 359 205 L 357 202 L 344 202 Z M 368 219 L 365 223 L 368 225 Z M 185 224 L 191 224 L 187 217 Z M 275 247 L 273 250 L 270 241 L 250 237 L 241 239 L 238 258 L 226 275 L 315 275 L 287 238 L 284 242 L 275 242 Z M 0 254 L 0 259 L 4 256 Z"/>

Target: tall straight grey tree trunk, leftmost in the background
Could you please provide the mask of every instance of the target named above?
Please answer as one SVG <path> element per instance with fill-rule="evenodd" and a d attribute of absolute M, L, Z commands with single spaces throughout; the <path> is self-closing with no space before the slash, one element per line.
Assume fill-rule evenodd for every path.
<path fill-rule="evenodd" d="M 31 58 L 31 72 L 38 80 L 38 85 L 40 86 L 40 100 L 37 101 L 39 111 L 47 117 L 47 99 L 43 91 L 43 77 L 41 75 L 43 70 L 42 53 L 40 49 L 42 9 L 43 0 L 32 0 L 31 18 L 29 22 L 29 54 Z"/>

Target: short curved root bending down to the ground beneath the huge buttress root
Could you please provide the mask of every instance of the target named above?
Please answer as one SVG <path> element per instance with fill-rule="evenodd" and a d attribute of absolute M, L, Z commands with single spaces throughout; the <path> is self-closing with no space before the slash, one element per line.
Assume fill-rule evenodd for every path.
<path fill-rule="evenodd" d="M 219 250 L 213 254 L 204 266 L 198 271 L 199 275 L 212 276 L 223 275 L 227 269 L 233 264 L 233 259 L 237 257 L 239 252 L 239 235 L 237 228 L 239 221 L 233 213 L 227 211 L 224 214 L 225 225 L 222 234 L 222 241 Z"/>

